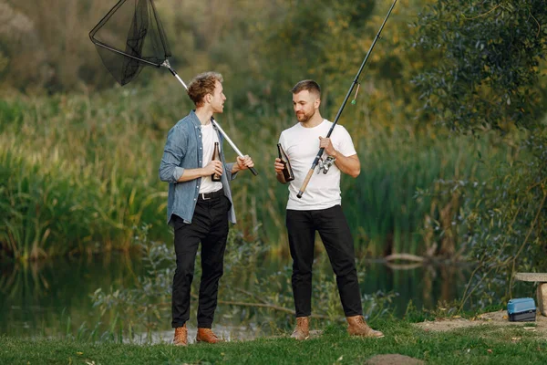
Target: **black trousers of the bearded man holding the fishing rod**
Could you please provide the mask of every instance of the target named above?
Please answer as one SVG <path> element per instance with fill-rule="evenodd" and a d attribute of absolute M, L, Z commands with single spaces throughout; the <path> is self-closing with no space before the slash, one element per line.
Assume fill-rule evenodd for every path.
<path fill-rule="evenodd" d="M 293 294 L 296 317 L 312 314 L 312 266 L 315 232 L 319 232 L 346 317 L 363 314 L 357 280 L 353 238 L 340 205 L 316 211 L 287 210 L 287 232 L 293 257 Z"/>

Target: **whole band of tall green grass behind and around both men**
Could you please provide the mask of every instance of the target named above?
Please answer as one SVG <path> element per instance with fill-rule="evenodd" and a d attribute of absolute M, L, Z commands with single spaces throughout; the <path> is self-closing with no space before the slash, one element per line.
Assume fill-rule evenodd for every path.
<path fill-rule="evenodd" d="M 158 166 L 167 131 L 191 109 L 180 89 L 1 100 L 2 255 L 129 250 L 134 227 L 142 224 L 150 224 L 151 239 L 170 241 L 167 185 L 158 179 Z M 259 172 L 243 172 L 232 183 L 237 229 L 287 254 L 287 190 L 276 182 L 273 162 L 279 134 L 294 124 L 292 111 L 267 102 L 246 112 L 228 105 L 218 119 Z M 492 148 L 488 138 L 409 131 L 397 123 L 389 129 L 348 127 L 362 172 L 356 180 L 343 178 L 343 207 L 359 247 L 373 256 L 431 252 L 439 238 L 431 222 L 440 222 L 447 206 L 447 216 L 456 214 L 457 204 L 428 195 L 417 199 L 417 191 L 435 189 L 438 179 L 480 174 L 478 151 L 483 160 L 502 160 L 507 153 Z M 227 144 L 226 152 L 235 159 Z"/>

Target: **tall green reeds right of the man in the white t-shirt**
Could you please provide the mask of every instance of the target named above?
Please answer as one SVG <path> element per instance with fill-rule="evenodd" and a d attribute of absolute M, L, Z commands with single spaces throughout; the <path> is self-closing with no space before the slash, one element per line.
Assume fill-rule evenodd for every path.
<path fill-rule="evenodd" d="M 437 193 L 442 180 L 480 180 L 484 160 L 504 160 L 506 150 L 495 147 L 493 137 L 369 130 L 359 141 L 361 174 L 356 181 L 343 181 L 343 206 L 358 245 L 372 256 L 435 254 L 432 245 L 440 244 L 430 237 L 432 221 L 443 224 L 441 215 L 448 214 L 451 224 L 459 197 L 417 193 Z"/>

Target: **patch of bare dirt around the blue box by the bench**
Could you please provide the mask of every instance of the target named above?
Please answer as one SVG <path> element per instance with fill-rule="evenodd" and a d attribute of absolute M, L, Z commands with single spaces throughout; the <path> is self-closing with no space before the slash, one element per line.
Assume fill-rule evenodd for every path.
<path fill-rule="evenodd" d="M 435 321 L 425 321 L 416 323 L 415 326 L 424 330 L 431 331 L 449 331 L 458 328 L 470 328 L 477 326 L 518 326 L 525 329 L 538 332 L 544 338 L 547 338 L 547 317 L 542 316 L 539 312 L 535 322 L 510 322 L 507 318 L 506 310 L 497 312 L 483 313 L 476 318 L 450 318 L 439 319 Z"/>

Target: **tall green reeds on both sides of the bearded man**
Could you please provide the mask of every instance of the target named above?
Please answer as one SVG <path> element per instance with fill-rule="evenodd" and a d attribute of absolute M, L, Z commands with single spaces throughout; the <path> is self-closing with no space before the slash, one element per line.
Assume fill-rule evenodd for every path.
<path fill-rule="evenodd" d="M 273 252 L 283 255 L 288 255 L 284 224 L 288 192 L 286 186 L 276 182 L 273 162 L 279 132 L 290 123 L 265 118 L 263 124 L 273 130 L 269 140 L 264 135 L 246 144 L 250 151 L 260 151 L 253 157 L 261 174 L 232 185 L 239 208 L 238 226 L 244 233 L 256 235 L 250 229 L 253 222 L 258 222 L 258 234 Z M 496 146 L 493 136 L 477 140 L 472 136 L 436 135 L 433 129 L 410 133 L 403 128 L 381 127 L 355 134 L 361 173 L 356 179 L 343 176 L 341 188 L 342 206 L 361 255 L 437 255 L 443 245 L 448 245 L 439 243 L 443 239 L 435 231 L 436 223 L 446 228 L 439 222 L 439 215 L 445 214 L 446 221 L 459 209 L 459 197 L 437 196 L 438 182 L 476 181 L 483 177 L 481 166 L 485 161 L 511 158 L 507 148 Z M 428 193 L 418 194 L 419 191 Z M 452 199 L 457 202 L 451 203 Z M 454 240 L 457 250 L 459 241 L 457 237 Z"/>

